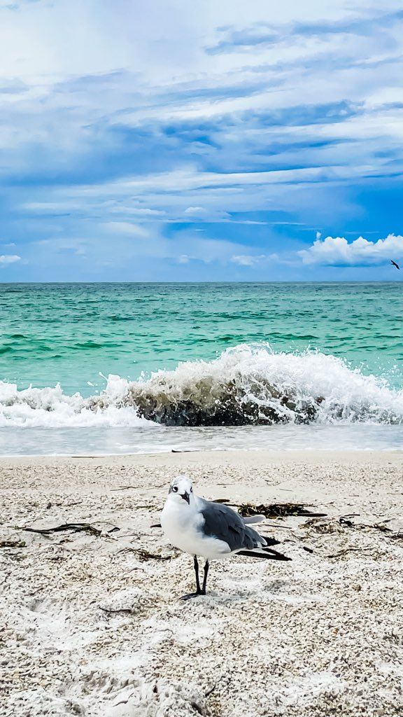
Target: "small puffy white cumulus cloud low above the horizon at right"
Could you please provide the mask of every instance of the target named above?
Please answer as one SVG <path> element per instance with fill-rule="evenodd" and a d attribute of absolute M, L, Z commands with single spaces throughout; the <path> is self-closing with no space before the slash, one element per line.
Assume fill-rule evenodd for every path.
<path fill-rule="evenodd" d="M 318 237 L 309 249 L 298 252 L 303 264 L 322 266 L 375 266 L 390 259 L 403 259 L 403 237 L 389 234 L 369 242 L 364 237 L 348 242 L 344 237 Z"/>

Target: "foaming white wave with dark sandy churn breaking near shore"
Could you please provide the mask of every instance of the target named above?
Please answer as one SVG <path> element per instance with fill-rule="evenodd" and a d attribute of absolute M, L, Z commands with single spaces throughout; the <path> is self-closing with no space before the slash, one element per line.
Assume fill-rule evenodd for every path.
<path fill-rule="evenodd" d="M 403 423 L 403 391 L 319 352 L 275 353 L 266 344 L 230 348 L 213 361 L 128 382 L 110 375 L 84 398 L 54 388 L 0 382 L 0 426 L 237 426 L 276 423 Z"/>

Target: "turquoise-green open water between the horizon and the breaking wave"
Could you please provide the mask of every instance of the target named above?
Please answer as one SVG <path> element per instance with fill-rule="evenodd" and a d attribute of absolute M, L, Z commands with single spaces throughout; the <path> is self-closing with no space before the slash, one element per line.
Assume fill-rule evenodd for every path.
<path fill-rule="evenodd" d="M 394 283 L 0 285 L 0 379 L 88 396 L 240 343 L 318 349 L 403 386 Z M 88 384 L 93 384 L 90 386 Z"/>

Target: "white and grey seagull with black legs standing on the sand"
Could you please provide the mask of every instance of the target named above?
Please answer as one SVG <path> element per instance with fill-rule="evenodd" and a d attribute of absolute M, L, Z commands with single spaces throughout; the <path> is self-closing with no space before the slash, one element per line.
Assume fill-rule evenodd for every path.
<path fill-rule="evenodd" d="M 242 518 L 227 505 L 199 498 L 194 494 L 191 480 L 186 475 L 174 478 L 161 513 L 161 528 L 171 545 L 194 556 L 196 573 L 196 592 L 186 594 L 181 599 L 189 600 L 191 597 L 206 594 L 210 560 L 222 560 L 235 554 L 252 558 L 290 560 L 269 548 L 269 545 L 276 545 L 279 541 L 260 536 L 247 525 L 252 522 L 257 521 L 253 518 Z M 205 559 L 201 587 L 197 556 Z"/>

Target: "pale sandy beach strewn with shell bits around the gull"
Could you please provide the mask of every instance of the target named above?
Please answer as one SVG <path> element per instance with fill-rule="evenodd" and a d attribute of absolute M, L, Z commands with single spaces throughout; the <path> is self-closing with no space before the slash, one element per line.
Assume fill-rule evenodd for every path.
<path fill-rule="evenodd" d="M 179 473 L 326 517 L 265 521 L 292 561 L 213 563 L 180 602 L 191 557 L 150 527 Z M 3 458 L 0 476 L 2 716 L 402 715 L 401 453 Z M 24 530 L 63 523 L 91 528 Z"/>

